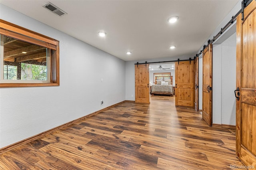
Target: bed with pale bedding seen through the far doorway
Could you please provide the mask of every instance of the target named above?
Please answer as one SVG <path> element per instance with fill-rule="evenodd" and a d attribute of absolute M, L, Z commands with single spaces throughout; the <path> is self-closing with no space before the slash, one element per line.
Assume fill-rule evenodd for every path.
<path fill-rule="evenodd" d="M 173 96 L 172 80 L 156 80 L 150 90 L 151 95 L 171 95 Z"/>

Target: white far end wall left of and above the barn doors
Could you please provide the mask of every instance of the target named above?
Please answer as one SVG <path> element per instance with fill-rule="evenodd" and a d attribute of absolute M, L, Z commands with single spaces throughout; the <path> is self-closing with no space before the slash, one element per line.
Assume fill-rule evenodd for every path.
<path fill-rule="evenodd" d="M 159 61 L 174 61 L 179 59 L 189 59 L 191 56 L 179 56 L 179 57 L 169 57 L 169 58 L 159 58 L 159 59 L 148 59 L 141 61 L 126 61 L 125 62 L 125 83 L 126 83 L 126 100 L 135 101 L 135 63 L 145 63 L 149 62 L 159 62 Z M 191 57 L 192 58 L 192 57 Z M 173 79 L 175 82 L 175 79 Z"/>

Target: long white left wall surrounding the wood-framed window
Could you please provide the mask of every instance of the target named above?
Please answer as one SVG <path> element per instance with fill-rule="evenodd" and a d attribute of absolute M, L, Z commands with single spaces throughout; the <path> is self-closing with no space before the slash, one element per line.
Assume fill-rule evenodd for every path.
<path fill-rule="evenodd" d="M 0 88 L 0 148 L 125 100 L 125 61 L 2 4 L 0 17 L 60 41 L 60 86 Z"/>

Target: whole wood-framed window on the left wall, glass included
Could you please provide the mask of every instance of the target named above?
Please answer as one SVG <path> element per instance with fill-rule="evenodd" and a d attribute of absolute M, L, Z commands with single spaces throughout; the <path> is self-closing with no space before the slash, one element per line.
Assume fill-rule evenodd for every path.
<path fill-rule="evenodd" d="M 56 85 L 58 41 L 0 20 L 0 87 Z"/>

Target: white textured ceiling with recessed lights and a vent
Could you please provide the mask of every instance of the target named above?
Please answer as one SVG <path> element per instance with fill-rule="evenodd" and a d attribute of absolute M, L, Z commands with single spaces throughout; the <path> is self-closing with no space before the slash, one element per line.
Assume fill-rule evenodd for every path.
<path fill-rule="evenodd" d="M 124 61 L 193 57 L 238 0 L 50 0 L 67 12 L 42 7 L 48 0 L 0 0 L 31 18 Z M 167 22 L 178 16 L 175 24 Z M 107 33 L 105 38 L 98 32 Z M 176 45 L 176 49 L 169 49 Z M 126 51 L 131 51 L 127 55 Z"/>

